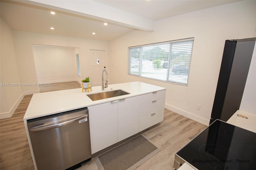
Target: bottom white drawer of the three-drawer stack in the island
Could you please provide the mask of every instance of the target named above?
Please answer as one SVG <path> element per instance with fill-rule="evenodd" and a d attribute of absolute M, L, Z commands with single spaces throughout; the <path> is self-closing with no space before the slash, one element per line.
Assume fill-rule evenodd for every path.
<path fill-rule="evenodd" d="M 157 123 L 164 120 L 164 109 L 161 113 L 156 113 L 154 115 L 148 115 L 147 117 L 144 117 L 140 119 L 139 121 L 139 132 L 152 127 L 153 125 L 156 125 Z"/>

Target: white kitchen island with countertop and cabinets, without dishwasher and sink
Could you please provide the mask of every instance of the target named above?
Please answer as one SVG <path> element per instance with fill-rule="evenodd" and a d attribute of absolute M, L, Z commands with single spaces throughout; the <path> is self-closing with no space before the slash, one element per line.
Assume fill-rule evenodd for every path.
<path fill-rule="evenodd" d="M 103 92 L 101 86 L 89 93 L 78 88 L 34 94 L 24 124 L 35 167 L 27 127 L 31 119 L 87 107 L 92 154 L 163 121 L 166 88 L 136 81 L 108 85 L 104 92 L 119 89 L 129 94 L 92 101 L 87 95 Z"/>

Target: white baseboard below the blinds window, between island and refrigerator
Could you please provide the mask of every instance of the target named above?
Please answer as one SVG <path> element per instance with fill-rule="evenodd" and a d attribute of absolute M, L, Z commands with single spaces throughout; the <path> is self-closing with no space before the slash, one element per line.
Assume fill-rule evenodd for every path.
<path fill-rule="evenodd" d="M 164 107 L 165 107 L 166 109 L 170 110 L 170 111 L 173 111 L 173 112 L 175 112 L 175 113 L 178 113 L 178 114 L 180 114 L 180 115 L 182 115 L 182 116 L 184 116 L 184 117 L 187 117 L 187 118 L 189 118 L 189 119 L 192 119 L 192 120 L 194 120 L 194 121 L 197 121 L 197 122 L 199 122 L 199 123 L 202 123 L 202 124 L 204 124 L 204 125 L 206 125 L 206 126 L 208 126 L 209 123 L 210 123 L 210 120 L 204 119 L 204 118 L 202 118 L 202 117 L 199 117 L 199 116 L 197 116 L 197 115 L 194 115 L 194 114 L 192 114 L 192 113 L 189 113 L 189 112 L 187 112 L 187 111 L 184 111 L 184 110 L 182 110 L 182 109 L 179 109 L 179 108 L 177 108 L 177 107 L 173 107 L 173 106 L 167 105 L 167 104 L 165 104 Z"/>

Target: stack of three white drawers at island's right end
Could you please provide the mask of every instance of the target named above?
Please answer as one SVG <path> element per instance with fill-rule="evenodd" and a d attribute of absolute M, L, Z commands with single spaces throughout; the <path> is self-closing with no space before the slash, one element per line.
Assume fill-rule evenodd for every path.
<path fill-rule="evenodd" d="M 139 132 L 164 120 L 166 90 L 140 96 Z"/>

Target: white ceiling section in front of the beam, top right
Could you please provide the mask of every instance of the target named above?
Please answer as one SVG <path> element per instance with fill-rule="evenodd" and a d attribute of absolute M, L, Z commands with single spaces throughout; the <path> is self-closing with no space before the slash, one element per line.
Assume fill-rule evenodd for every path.
<path fill-rule="evenodd" d="M 95 0 L 144 18 L 159 20 L 239 0 Z"/>

